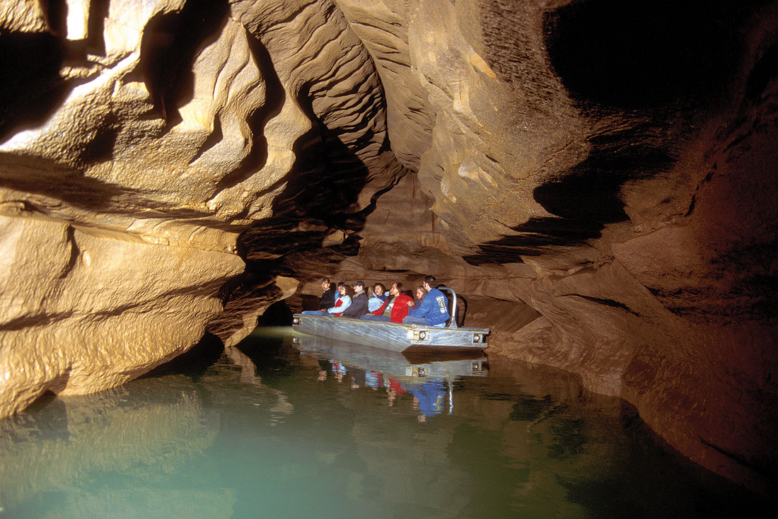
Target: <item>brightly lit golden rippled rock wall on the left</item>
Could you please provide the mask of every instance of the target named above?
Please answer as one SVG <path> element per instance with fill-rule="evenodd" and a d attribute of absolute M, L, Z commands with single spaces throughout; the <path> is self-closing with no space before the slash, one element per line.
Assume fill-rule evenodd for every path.
<path fill-rule="evenodd" d="M 2 5 L 0 416 L 121 384 L 206 326 L 237 342 L 296 288 L 226 286 L 238 233 L 296 222 L 306 179 L 340 183 L 310 207 L 338 215 L 404 174 L 370 58 L 328 2 Z"/>

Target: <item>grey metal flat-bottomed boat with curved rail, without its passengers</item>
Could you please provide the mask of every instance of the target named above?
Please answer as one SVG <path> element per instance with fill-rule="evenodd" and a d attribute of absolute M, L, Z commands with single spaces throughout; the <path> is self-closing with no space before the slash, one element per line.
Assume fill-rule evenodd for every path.
<path fill-rule="evenodd" d="M 445 286 L 452 296 L 451 314 L 457 314 L 457 294 Z M 384 321 L 362 321 L 350 317 L 294 314 L 292 328 L 310 335 L 391 349 L 401 352 L 412 346 L 432 349 L 485 349 L 489 328 L 458 328 L 451 319 L 446 328 L 398 324 Z"/>

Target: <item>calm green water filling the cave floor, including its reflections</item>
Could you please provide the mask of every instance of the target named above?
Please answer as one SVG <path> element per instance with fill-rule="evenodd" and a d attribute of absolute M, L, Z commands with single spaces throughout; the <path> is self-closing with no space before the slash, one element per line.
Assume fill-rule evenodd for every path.
<path fill-rule="evenodd" d="M 293 335 L 0 422 L 0 517 L 756 517 L 573 376 Z"/>

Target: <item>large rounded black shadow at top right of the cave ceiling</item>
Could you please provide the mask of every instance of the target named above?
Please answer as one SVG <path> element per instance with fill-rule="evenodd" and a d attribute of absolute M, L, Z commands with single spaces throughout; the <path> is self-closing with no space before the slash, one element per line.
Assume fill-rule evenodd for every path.
<path fill-rule="evenodd" d="M 704 103 L 731 79 L 738 26 L 763 2 L 570 2 L 545 12 L 548 58 L 574 99 L 619 110 Z"/>

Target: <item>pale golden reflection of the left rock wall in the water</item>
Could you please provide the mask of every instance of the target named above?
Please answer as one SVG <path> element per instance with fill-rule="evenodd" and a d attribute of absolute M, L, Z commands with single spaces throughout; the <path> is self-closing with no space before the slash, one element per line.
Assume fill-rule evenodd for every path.
<path fill-rule="evenodd" d="M 148 511 L 138 507 L 141 500 L 163 513 L 198 509 L 230 517 L 223 515 L 234 502 L 230 493 L 178 489 L 170 500 L 144 476 L 150 466 L 177 472 L 213 444 L 218 430 L 219 414 L 176 380 L 55 399 L 0 422 L 0 506 L 21 504 L 19 517 L 141 517 Z M 131 488 L 110 486 L 119 473 L 134 480 Z"/>

